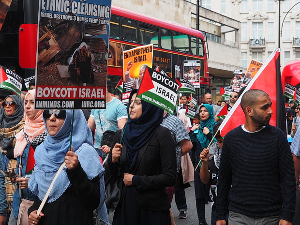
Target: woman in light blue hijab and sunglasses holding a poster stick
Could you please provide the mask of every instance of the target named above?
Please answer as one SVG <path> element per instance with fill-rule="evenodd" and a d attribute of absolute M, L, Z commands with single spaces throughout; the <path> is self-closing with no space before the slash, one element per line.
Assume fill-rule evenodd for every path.
<path fill-rule="evenodd" d="M 75 110 L 72 151 L 69 151 L 72 110 L 44 110 L 48 135 L 34 152 L 35 165 L 29 179 L 30 191 L 37 195 L 28 210 L 29 225 L 93 225 L 93 210 L 108 223 L 104 204 L 104 168 L 93 148 L 92 135 L 81 110 Z M 60 165 L 46 204 L 37 215 L 45 194 Z"/>

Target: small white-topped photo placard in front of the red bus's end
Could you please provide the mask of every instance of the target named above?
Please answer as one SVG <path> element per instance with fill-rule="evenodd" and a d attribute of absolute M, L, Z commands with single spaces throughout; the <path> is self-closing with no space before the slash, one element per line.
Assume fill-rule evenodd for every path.
<path fill-rule="evenodd" d="M 201 61 L 184 61 L 183 78 L 190 81 L 195 88 L 200 88 Z"/>

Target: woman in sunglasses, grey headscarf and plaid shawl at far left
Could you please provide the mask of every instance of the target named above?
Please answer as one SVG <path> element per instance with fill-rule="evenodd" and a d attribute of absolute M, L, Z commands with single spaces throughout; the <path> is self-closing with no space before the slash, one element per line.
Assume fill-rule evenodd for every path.
<path fill-rule="evenodd" d="M 9 172 L 12 171 L 12 168 L 15 169 L 17 165 L 14 156 L 15 135 L 24 127 L 25 121 L 23 118 L 23 100 L 17 95 L 9 95 L 6 97 L 0 109 L 0 140 L 4 170 Z M 16 186 L 12 184 L 10 178 L 5 178 L 5 187 L 8 204 L 7 211 L 10 213 Z"/>

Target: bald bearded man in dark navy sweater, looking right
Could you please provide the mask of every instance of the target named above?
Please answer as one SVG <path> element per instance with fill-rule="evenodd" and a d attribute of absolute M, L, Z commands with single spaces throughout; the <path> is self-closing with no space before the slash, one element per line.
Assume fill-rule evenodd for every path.
<path fill-rule="evenodd" d="M 296 182 L 285 134 L 269 125 L 269 95 L 248 90 L 241 99 L 246 117 L 225 135 L 217 186 L 217 223 L 292 225 Z"/>

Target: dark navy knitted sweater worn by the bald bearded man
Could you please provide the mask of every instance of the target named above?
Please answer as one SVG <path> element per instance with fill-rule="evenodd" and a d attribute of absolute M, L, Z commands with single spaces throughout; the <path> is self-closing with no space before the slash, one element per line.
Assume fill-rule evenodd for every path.
<path fill-rule="evenodd" d="M 256 133 L 241 126 L 230 131 L 220 161 L 217 220 L 225 220 L 228 207 L 253 217 L 281 214 L 292 222 L 295 201 L 294 163 L 284 133 L 271 125 Z"/>

